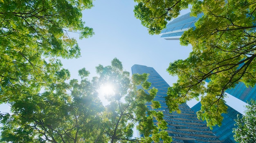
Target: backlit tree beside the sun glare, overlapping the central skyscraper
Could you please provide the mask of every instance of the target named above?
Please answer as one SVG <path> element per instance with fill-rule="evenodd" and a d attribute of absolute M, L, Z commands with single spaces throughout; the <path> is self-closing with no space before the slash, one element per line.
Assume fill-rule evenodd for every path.
<path fill-rule="evenodd" d="M 164 130 L 167 128 L 167 123 L 163 119 L 163 113 L 149 110 L 146 106 L 147 102 L 151 102 L 153 109 L 160 108 L 159 102 L 153 101 L 157 89 L 148 90 L 150 83 L 146 81 L 147 74 L 134 74 L 130 78 L 129 72 L 123 71 L 123 66 L 117 58 L 113 59 L 111 66 L 99 65 L 96 69 L 100 75 L 99 85 L 108 82 L 114 87 L 114 93 L 108 97 L 110 103 L 103 112 L 102 128 L 106 142 L 151 143 L 159 142 L 160 139 L 165 143 L 171 142 L 171 137 L 168 137 L 168 133 Z M 142 89 L 137 90 L 139 85 Z M 144 137 L 132 138 L 132 129 L 136 124 L 138 124 L 137 130 Z"/>

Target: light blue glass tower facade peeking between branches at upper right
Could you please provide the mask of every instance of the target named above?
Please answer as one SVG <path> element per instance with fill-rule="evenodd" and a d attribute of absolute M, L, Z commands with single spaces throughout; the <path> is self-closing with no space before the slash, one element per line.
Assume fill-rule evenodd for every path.
<path fill-rule="evenodd" d="M 184 31 L 189 30 L 191 27 L 195 27 L 195 22 L 197 22 L 202 15 L 203 13 L 200 13 L 197 17 L 190 17 L 190 13 L 186 13 L 175 18 L 166 25 L 164 30 L 162 30 L 160 33 L 161 37 L 166 40 L 180 39 Z"/>

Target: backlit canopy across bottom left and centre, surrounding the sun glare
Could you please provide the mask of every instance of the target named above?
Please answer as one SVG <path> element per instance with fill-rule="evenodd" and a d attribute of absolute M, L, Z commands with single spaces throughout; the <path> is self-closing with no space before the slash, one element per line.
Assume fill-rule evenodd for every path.
<path fill-rule="evenodd" d="M 89 80 L 90 72 L 79 70 L 81 81 L 67 83 L 69 72 L 61 70 L 56 78 L 62 82 L 48 85 L 42 93 L 26 92 L 13 102 L 10 113 L 0 114 L 3 143 L 152 143 L 163 140 L 171 143 L 164 130 L 166 121 L 153 101 L 157 89 L 147 82 L 147 74 L 123 70 L 115 58 L 111 65 L 96 67 L 99 77 Z M 114 93 L 108 95 L 109 104 L 103 106 L 98 96 L 101 85 L 111 83 Z M 141 86 L 141 89 L 137 89 Z M 137 126 L 136 126 L 137 125 Z M 143 137 L 133 137 L 136 126 Z"/>

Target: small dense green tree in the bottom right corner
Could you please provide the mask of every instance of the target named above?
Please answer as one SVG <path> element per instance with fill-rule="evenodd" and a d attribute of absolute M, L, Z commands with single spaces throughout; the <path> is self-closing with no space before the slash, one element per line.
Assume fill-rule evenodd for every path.
<path fill-rule="evenodd" d="M 256 142 L 256 102 L 251 101 L 246 106 L 247 110 L 242 118 L 236 119 L 237 128 L 233 129 L 234 138 L 239 143 L 255 143 Z"/>

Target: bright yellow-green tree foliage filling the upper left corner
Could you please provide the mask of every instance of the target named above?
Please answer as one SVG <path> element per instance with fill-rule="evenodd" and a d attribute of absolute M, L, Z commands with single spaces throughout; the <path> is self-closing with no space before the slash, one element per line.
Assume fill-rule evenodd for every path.
<path fill-rule="evenodd" d="M 0 103 L 16 100 L 23 90 L 40 91 L 58 82 L 61 58 L 77 58 L 80 48 L 69 32 L 92 36 L 84 26 L 83 9 L 92 0 L 0 1 Z"/>

